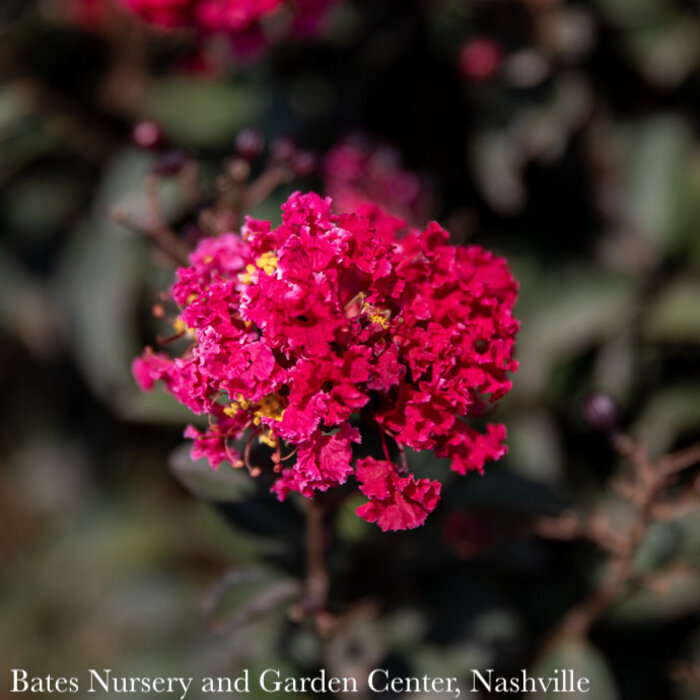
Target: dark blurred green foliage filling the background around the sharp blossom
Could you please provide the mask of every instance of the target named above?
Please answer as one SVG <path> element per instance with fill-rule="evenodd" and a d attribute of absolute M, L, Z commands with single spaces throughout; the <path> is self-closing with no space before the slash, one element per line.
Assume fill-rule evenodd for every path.
<path fill-rule="evenodd" d="M 680 572 L 666 590 L 640 589 L 590 642 L 543 657 L 601 556 L 529 527 L 613 501 L 606 479 L 619 459 L 579 418 L 589 391 L 612 394 L 654 456 L 700 439 L 697 5 L 348 0 L 318 40 L 215 75 L 187 67 L 184 41 L 86 31 L 51 5 L 8 2 L 0 15 L 7 667 L 324 666 L 358 677 L 378 665 L 460 677 L 574 667 L 600 700 L 697 697 L 669 669 L 700 664 L 698 511 L 659 524 L 639 552 L 642 572 Z M 460 51 L 484 39 L 498 62 L 465 72 Z M 433 215 L 456 240 L 505 254 L 521 281 L 521 368 L 498 412 L 509 455 L 482 478 L 451 478 L 414 532 L 382 535 L 352 515 L 356 502 L 329 504 L 330 640 L 286 615 L 303 575 L 300 504 L 192 463 L 180 447 L 186 412 L 131 380 L 170 273 L 108 214 L 143 215 L 156 156 L 129 132 L 147 117 L 196 156 L 205 186 L 247 125 L 318 153 L 347 131 L 371 133 L 430 176 Z M 275 216 L 283 196 L 257 213 Z M 186 228 L 174 179 L 163 197 Z M 422 455 L 411 464 L 445 473 Z"/>

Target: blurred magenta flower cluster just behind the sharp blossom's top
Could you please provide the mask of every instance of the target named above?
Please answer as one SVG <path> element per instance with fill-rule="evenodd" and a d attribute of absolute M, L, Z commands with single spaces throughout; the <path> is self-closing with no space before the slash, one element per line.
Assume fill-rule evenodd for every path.
<path fill-rule="evenodd" d="M 337 144 L 323 162 L 326 194 L 338 211 L 368 202 L 411 221 L 425 220 L 432 195 L 416 174 L 401 167 L 390 146 L 356 134 Z"/>

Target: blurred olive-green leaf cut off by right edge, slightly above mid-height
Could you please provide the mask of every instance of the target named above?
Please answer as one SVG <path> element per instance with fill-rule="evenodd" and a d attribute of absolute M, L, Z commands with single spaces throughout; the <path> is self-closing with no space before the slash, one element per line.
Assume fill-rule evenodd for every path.
<path fill-rule="evenodd" d="M 647 340 L 700 342 L 700 280 L 677 279 L 646 309 Z"/>

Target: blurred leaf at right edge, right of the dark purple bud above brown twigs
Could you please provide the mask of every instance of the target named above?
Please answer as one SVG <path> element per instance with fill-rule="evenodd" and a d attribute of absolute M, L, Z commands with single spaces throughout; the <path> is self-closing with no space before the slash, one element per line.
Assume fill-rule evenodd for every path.
<path fill-rule="evenodd" d="M 658 391 L 634 427 L 643 436 L 652 455 L 671 449 L 676 438 L 700 424 L 700 386 L 684 384 Z"/>

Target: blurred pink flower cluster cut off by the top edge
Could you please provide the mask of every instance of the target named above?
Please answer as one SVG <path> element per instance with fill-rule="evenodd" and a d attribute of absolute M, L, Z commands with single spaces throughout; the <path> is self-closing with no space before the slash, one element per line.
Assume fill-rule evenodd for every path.
<path fill-rule="evenodd" d="M 268 17 L 287 10 L 295 31 L 316 31 L 333 0 L 121 0 L 147 22 L 165 29 L 195 28 L 205 33 L 255 31 Z"/>

